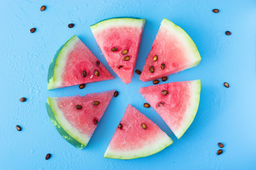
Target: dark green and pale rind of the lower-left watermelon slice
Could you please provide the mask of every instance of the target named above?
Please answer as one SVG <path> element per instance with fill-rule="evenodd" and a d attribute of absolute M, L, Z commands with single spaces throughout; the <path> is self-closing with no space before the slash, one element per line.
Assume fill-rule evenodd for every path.
<path fill-rule="evenodd" d="M 80 141 L 79 137 L 73 137 L 73 132 L 68 132 L 68 130 L 65 130 L 63 128 L 62 125 L 60 125 L 61 123 L 59 123 L 59 121 L 57 120 L 56 116 L 58 115 L 58 108 L 56 108 L 56 106 L 54 106 L 55 104 L 53 103 L 55 100 L 54 98 L 48 98 L 48 101 L 46 103 L 46 109 L 48 112 L 48 115 L 50 117 L 50 121 L 53 123 L 53 125 L 55 126 L 55 128 L 58 130 L 58 132 L 60 133 L 60 135 L 67 140 L 71 145 L 73 145 L 74 147 L 77 147 L 78 149 L 83 149 L 86 147 L 88 141 L 90 140 L 90 137 L 88 137 L 87 142 L 78 142 Z M 61 112 L 61 111 L 60 111 Z"/>

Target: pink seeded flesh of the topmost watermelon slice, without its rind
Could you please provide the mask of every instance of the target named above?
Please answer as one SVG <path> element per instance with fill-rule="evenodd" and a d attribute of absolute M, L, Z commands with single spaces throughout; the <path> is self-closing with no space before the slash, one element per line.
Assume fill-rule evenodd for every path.
<path fill-rule="evenodd" d="M 132 81 L 142 31 L 143 28 L 134 27 L 108 28 L 95 35 L 107 63 L 125 84 Z M 117 47 L 117 51 L 112 52 L 112 47 Z M 122 55 L 123 50 L 128 50 L 128 53 Z M 130 57 L 129 61 L 124 61 L 126 56 Z"/>

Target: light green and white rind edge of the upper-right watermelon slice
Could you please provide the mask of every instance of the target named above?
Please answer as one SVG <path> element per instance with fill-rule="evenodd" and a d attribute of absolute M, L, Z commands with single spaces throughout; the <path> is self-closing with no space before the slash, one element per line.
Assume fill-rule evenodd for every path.
<path fill-rule="evenodd" d="M 177 26 L 173 22 L 169 21 L 168 19 L 164 18 L 164 20 L 161 22 L 161 26 L 164 26 L 168 28 L 169 30 L 175 30 L 176 35 L 178 35 L 184 42 L 184 44 L 187 44 L 188 47 L 186 49 L 191 50 L 191 61 L 193 61 L 193 64 L 190 65 L 190 67 L 186 68 L 189 69 L 191 67 L 196 67 L 199 62 L 201 62 L 201 55 L 198 52 L 198 48 L 196 47 L 195 42 L 193 42 L 192 38 L 186 33 L 185 30 L 183 30 L 181 27 Z"/>

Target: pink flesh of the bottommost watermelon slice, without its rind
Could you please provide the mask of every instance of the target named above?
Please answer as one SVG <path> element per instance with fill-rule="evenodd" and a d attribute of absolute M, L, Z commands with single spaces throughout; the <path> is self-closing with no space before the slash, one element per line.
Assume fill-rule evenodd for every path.
<path fill-rule="evenodd" d="M 142 149 L 145 145 L 154 144 L 161 135 L 166 135 L 155 123 L 131 105 L 127 106 L 120 123 L 122 129 L 117 128 L 109 145 L 112 151 Z M 146 124 L 146 130 L 142 128 L 142 123 Z"/>

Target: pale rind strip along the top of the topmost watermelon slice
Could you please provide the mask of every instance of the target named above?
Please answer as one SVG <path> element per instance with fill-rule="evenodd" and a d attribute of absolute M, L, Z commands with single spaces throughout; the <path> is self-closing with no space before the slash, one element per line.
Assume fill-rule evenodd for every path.
<path fill-rule="evenodd" d="M 112 18 L 105 21 L 100 21 L 95 25 L 90 26 L 93 35 L 97 35 L 102 30 L 108 28 L 118 28 L 118 27 L 138 27 L 143 28 L 146 19 L 135 19 L 135 18 Z"/>

